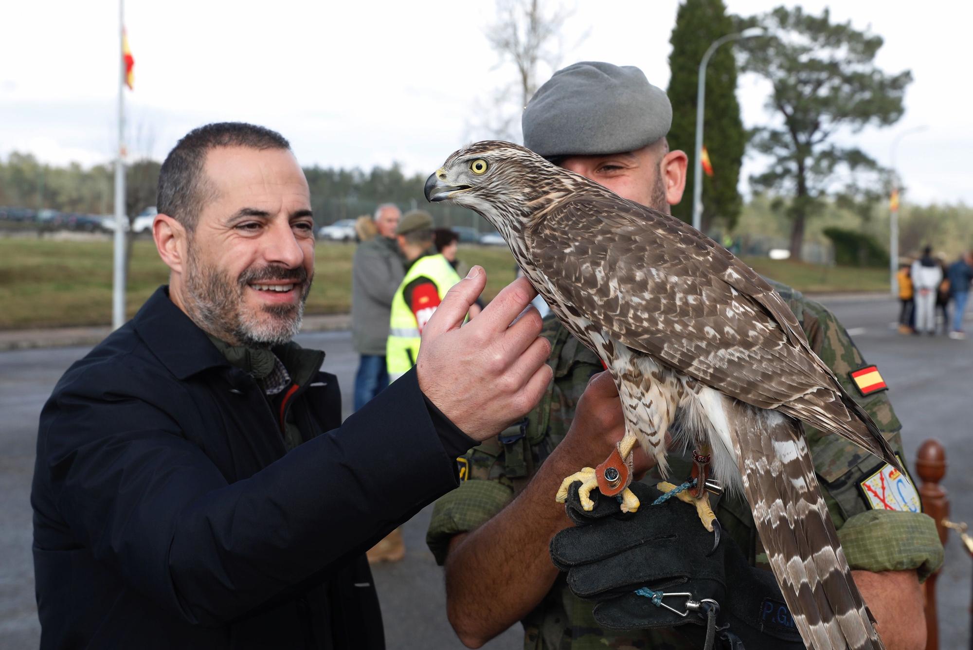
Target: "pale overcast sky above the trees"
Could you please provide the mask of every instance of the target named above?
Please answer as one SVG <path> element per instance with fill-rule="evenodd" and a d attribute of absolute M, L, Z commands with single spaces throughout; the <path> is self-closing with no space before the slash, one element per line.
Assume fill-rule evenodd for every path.
<path fill-rule="evenodd" d="M 554 0 L 549 0 L 549 4 Z M 579 2 L 565 24 L 562 65 L 605 60 L 637 65 L 665 89 L 676 0 Z M 727 0 L 760 13 L 775 2 Z M 802 3 L 820 12 L 828 3 Z M 126 3 L 135 90 L 126 90 L 129 151 L 162 159 L 187 130 L 243 120 L 290 139 L 305 165 L 401 162 L 435 169 L 478 135 L 494 90 L 512 78 L 484 37 L 492 2 L 295 2 L 167 0 Z M 973 203 L 968 61 L 973 4 L 855 0 L 832 17 L 881 34 L 878 64 L 911 69 L 906 113 L 854 142 L 898 168 L 920 202 Z M 0 156 L 45 162 L 106 162 L 115 150 L 117 0 L 8 4 L 0 21 Z M 581 36 L 587 33 L 583 40 Z M 580 41 L 580 43 L 579 43 Z M 546 79 L 545 75 L 544 79 Z M 542 80 L 543 81 L 543 80 Z M 742 76 L 745 126 L 768 120 L 769 87 Z M 482 135 L 482 134 L 481 134 Z M 744 173 L 758 171 L 748 161 Z"/>

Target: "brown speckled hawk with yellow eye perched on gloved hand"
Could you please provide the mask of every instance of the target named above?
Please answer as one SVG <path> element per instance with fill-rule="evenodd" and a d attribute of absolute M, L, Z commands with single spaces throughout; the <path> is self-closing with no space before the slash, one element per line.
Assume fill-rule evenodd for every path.
<path fill-rule="evenodd" d="M 760 275 L 678 219 L 509 142 L 454 152 L 425 196 L 493 224 L 534 288 L 615 379 L 626 434 L 613 456 L 622 462 L 568 477 L 561 499 L 581 480 L 586 508 L 596 486 L 617 493 L 623 509 L 637 508 L 625 477 L 631 449 L 637 442 L 654 455 L 665 476 L 666 434 L 678 417 L 672 435 L 697 450 L 693 498 L 703 524 L 712 529 L 703 490 L 711 471 L 745 495 L 804 642 L 883 647 L 817 488 L 801 422 L 894 467 L 899 461 Z"/>

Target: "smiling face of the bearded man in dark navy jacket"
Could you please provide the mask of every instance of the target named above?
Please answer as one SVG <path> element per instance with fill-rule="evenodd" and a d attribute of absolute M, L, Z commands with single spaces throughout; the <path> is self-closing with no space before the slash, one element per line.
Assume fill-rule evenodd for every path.
<path fill-rule="evenodd" d="M 202 329 L 230 343 L 289 341 L 314 276 L 314 222 L 301 166 L 287 150 L 211 150 L 213 197 L 189 238 L 184 298 Z"/>

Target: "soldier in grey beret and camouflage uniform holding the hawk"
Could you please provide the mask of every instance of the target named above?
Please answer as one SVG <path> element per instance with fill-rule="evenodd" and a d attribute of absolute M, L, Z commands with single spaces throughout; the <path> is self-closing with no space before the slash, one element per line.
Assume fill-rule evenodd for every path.
<path fill-rule="evenodd" d="M 582 62 L 556 72 L 530 100 L 523 112 L 524 144 L 626 199 L 667 212 L 682 198 L 687 162 L 685 153 L 668 149 L 670 120 L 666 94 L 637 68 Z M 827 308 L 789 287 L 775 284 L 775 289 L 815 353 L 901 454 L 901 424 L 878 371 L 866 364 Z M 698 647 L 678 629 L 601 625 L 592 603 L 575 596 L 552 563 L 552 538 L 573 525 L 554 501 L 561 479 L 603 460 L 621 439 L 624 424 L 614 383 L 607 373 L 599 374 L 595 354 L 553 316 L 545 319 L 543 336 L 552 343 L 548 363 L 554 371 L 547 393 L 525 419 L 459 458 L 465 480 L 436 503 L 429 524 L 427 543 L 446 568 L 450 623 L 470 647 L 518 620 L 524 648 Z M 837 436 L 810 427 L 806 434 L 848 563 L 886 646 L 922 647 L 919 582 L 942 563 L 943 550 L 934 523 L 919 512 L 915 488 Z M 636 476 L 649 469 L 639 453 Z M 687 471 L 688 464 L 671 474 Z M 882 489 L 886 480 L 897 482 L 901 498 Z M 654 484 L 658 477 L 644 481 Z M 688 516 L 695 518 L 695 511 Z M 749 564 L 766 568 L 747 505 L 725 496 L 717 516 Z M 706 533 L 701 529 L 700 534 Z M 758 647 L 781 645 L 769 637 Z"/>

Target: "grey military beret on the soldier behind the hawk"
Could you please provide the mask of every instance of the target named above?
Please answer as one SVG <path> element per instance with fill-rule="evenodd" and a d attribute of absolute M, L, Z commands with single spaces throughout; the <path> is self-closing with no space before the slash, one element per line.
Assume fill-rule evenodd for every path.
<path fill-rule="evenodd" d="M 521 124 L 523 145 L 545 158 L 618 154 L 665 136 L 672 105 L 633 65 L 582 61 L 534 93 Z"/>

